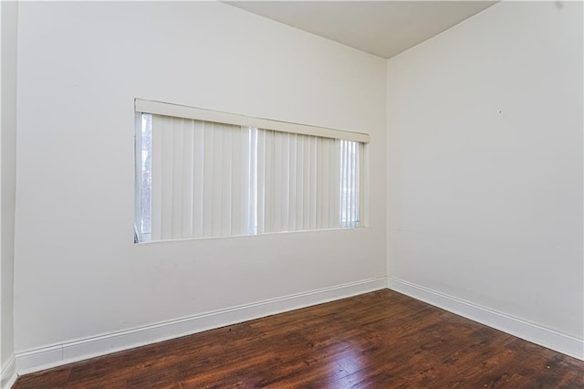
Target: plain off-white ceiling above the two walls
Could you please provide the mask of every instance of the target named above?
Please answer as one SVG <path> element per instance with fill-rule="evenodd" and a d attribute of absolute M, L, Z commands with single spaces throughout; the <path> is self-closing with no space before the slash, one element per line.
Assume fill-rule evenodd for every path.
<path fill-rule="evenodd" d="M 381 58 L 441 33 L 496 1 L 226 1 Z"/>

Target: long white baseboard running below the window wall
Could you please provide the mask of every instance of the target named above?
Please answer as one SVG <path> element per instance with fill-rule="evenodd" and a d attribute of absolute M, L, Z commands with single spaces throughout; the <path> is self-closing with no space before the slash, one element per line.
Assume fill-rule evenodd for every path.
<path fill-rule="evenodd" d="M 387 288 L 387 278 L 385 277 L 364 279 L 224 310 L 214 310 L 127 331 L 80 339 L 75 342 L 64 342 L 26 352 L 17 352 L 16 372 L 18 374 L 33 373 L 110 352 L 120 352 L 154 342 L 162 342 L 196 332 L 385 288 Z"/>

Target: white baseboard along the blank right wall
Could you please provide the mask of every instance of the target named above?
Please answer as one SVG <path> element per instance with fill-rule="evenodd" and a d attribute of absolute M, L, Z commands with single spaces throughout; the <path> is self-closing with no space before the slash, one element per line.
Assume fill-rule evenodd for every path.
<path fill-rule="evenodd" d="M 433 289 L 424 288 L 401 279 L 388 278 L 388 288 L 449 310 L 472 321 L 504 331 L 518 338 L 534 342 L 548 349 L 562 352 L 584 361 L 584 339 L 541 327 L 535 323 L 506 313 L 490 310 L 468 301 L 456 299 Z"/>

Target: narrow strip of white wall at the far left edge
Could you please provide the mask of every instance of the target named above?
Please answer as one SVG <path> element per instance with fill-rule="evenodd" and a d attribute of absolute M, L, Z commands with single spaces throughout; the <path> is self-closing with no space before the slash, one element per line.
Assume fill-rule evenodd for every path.
<path fill-rule="evenodd" d="M 16 204 L 16 31 L 18 4 L 0 3 L 0 386 L 14 379 L 14 254 Z"/>

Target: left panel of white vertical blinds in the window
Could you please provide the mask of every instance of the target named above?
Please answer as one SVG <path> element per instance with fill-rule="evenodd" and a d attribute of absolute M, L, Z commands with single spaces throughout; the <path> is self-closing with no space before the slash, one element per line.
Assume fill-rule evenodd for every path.
<path fill-rule="evenodd" d="M 249 131 L 152 115 L 151 239 L 248 234 Z"/>

